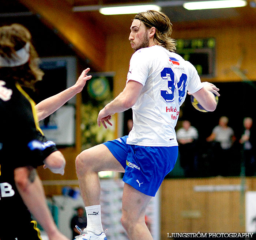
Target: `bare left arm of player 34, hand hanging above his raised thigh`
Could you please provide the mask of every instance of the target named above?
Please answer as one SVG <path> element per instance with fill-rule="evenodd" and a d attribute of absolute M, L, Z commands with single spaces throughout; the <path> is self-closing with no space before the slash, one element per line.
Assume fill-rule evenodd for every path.
<path fill-rule="evenodd" d="M 98 126 L 102 125 L 107 128 L 106 123 L 112 126 L 109 121 L 114 113 L 121 113 L 131 108 L 138 100 L 143 85 L 137 81 L 129 80 L 123 92 L 121 92 L 112 102 L 108 103 L 98 115 Z"/>

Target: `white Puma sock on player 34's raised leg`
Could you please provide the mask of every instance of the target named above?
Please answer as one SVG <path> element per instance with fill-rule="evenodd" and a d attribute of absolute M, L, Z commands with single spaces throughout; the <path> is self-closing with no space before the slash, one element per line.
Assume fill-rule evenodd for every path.
<path fill-rule="evenodd" d="M 90 232 L 100 234 L 103 232 L 101 224 L 101 205 L 93 205 L 85 207 L 87 216 L 86 229 Z"/>

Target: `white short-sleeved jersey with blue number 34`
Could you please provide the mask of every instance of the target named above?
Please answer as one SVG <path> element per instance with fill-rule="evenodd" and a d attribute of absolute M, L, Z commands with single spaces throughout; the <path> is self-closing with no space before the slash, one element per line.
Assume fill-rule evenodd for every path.
<path fill-rule="evenodd" d="M 187 91 L 203 87 L 195 67 L 162 46 L 137 50 L 131 57 L 127 83 L 144 87 L 132 107 L 133 128 L 127 144 L 177 146 L 176 126 Z"/>

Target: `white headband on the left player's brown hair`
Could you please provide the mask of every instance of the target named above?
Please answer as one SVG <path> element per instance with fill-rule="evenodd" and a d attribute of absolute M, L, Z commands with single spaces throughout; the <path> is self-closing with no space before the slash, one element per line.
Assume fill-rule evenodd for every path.
<path fill-rule="evenodd" d="M 29 61 L 29 46 L 30 44 L 27 42 L 22 49 L 16 51 L 16 56 L 12 54 L 11 58 L 0 56 L 0 67 L 14 67 L 25 64 Z"/>

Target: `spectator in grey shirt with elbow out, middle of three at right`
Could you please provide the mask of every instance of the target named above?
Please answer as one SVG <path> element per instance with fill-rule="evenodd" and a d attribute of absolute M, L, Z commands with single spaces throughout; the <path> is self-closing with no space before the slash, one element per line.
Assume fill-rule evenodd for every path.
<path fill-rule="evenodd" d="M 233 175 L 233 155 L 232 155 L 232 146 L 236 137 L 234 135 L 234 130 L 227 126 L 229 119 L 225 116 L 222 116 L 219 119 L 219 125 L 214 127 L 212 133 L 209 137 L 206 138 L 207 142 L 215 141 L 215 169 L 217 175 L 221 176 L 230 176 Z"/>

